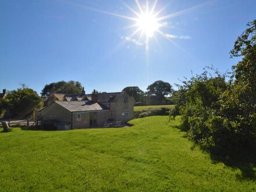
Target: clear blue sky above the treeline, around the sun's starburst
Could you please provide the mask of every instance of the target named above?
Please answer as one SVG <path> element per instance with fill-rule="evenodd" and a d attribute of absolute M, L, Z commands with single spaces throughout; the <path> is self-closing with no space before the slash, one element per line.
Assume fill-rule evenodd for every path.
<path fill-rule="evenodd" d="M 234 41 L 256 19 L 254 0 L 159 0 L 156 12 L 166 6 L 159 17 L 180 14 L 161 20 L 169 26 L 159 28 L 166 37 L 154 33 L 147 51 L 144 35 L 128 38 L 134 21 L 113 16 L 137 17 L 125 4 L 140 12 L 132 0 L 2 0 L 0 90 L 25 83 L 40 93 L 45 84 L 75 80 L 87 93 L 127 86 L 145 91 L 156 80 L 179 83 L 204 66 L 225 72 L 238 61 L 229 58 Z"/>

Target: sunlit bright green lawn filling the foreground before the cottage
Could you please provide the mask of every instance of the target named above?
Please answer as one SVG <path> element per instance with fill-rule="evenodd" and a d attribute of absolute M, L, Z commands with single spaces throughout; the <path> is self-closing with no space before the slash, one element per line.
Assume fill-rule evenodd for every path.
<path fill-rule="evenodd" d="M 213 163 L 168 116 L 133 127 L 0 133 L 0 191 L 255 191 Z M 1 129 L 2 130 L 2 129 Z M 1 131 L 0 130 L 0 131 Z"/>

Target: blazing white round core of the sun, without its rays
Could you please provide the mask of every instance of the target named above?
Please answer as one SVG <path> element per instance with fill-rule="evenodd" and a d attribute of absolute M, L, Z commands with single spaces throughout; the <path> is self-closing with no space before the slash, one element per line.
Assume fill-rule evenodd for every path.
<path fill-rule="evenodd" d="M 158 30 L 160 24 L 157 21 L 157 17 L 152 13 L 141 13 L 137 19 L 138 29 L 145 34 L 148 38 L 154 36 L 155 31 Z"/>

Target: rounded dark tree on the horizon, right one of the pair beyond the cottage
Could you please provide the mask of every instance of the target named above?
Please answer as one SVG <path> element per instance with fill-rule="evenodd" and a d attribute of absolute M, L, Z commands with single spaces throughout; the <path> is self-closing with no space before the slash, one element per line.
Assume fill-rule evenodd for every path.
<path fill-rule="evenodd" d="M 149 97 L 156 97 L 158 103 L 165 101 L 165 96 L 173 92 L 172 86 L 164 81 L 155 81 L 147 88 L 147 94 Z"/>

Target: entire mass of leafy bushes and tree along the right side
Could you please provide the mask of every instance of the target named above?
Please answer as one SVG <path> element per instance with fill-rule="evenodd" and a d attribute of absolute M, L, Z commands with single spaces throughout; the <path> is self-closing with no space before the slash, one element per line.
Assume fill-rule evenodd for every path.
<path fill-rule="evenodd" d="M 180 112 L 181 128 L 204 150 L 230 154 L 256 139 L 256 20 L 248 26 L 230 52 L 243 58 L 233 66 L 229 82 L 218 70 L 214 76 L 205 70 L 177 92 L 170 116 L 175 119 Z"/>

